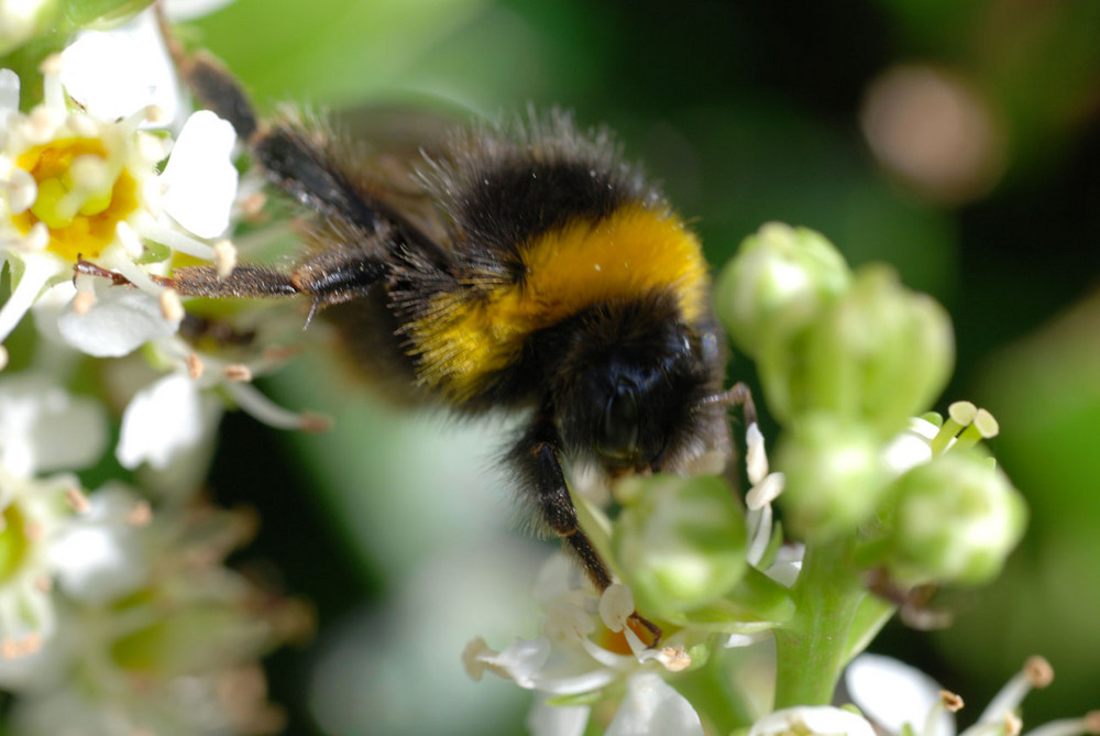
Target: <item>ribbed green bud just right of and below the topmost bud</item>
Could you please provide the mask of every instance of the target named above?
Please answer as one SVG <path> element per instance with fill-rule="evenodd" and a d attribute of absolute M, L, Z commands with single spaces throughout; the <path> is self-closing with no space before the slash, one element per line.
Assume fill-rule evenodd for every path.
<path fill-rule="evenodd" d="M 869 421 L 884 436 L 943 391 L 954 355 L 943 307 L 875 265 L 857 272 L 851 288 L 796 339 L 769 344 L 758 367 L 781 420 L 825 409 Z"/>

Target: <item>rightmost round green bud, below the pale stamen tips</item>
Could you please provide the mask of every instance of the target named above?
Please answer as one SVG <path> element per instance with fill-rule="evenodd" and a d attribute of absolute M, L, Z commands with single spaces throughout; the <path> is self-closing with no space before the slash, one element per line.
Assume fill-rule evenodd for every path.
<path fill-rule="evenodd" d="M 1008 476 L 976 450 L 917 465 L 890 490 L 886 564 L 910 585 L 976 585 L 1000 572 L 1027 507 Z"/>

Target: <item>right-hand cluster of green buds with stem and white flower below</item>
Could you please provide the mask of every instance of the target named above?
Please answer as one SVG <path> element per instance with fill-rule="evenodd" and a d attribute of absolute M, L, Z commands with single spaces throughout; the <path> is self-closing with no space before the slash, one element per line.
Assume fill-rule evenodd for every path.
<path fill-rule="evenodd" d="M 1023 532 L 1023 501 L 982 444 L 992 416 L 968 402 L 946 419 L 927 411 L 953 363 L 932 299 L 780 224 L 745 241 L 715 298 L 783 427 L 778 472 L 750 424 L 744 497 L 721 477 L 636 477 L 613 486 L 612 519 L 574 494 L 623 583 L 573 604 L 565 626 L 561 594 L 540 581 L 546 636 L 468 650 L 472 674 L 538 692 L 534 733 L 581 734 L 601 717 L 607 733 L 870 735 L 832 706 L 845 667 L 899 609 L 931 617 L 915 592 L 992 579 Z M 623 636 L 596 616 L 610 596 L 627 611 L 637 598 L 667 648 L 642 649 L 626 629 L 629 649 L 600 655 Z"/>

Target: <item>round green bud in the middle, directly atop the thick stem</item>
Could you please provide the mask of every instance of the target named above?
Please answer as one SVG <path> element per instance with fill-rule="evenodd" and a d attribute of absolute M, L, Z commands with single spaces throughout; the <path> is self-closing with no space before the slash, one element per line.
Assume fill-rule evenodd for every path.
<path fill-rule="evenodd" d="M 807 540 L 853 532 L 875 515 L 889 480 L 878 435 L 829 414 L 800 419 L 783 438 L 776 466 L 787 476 L 779 497 L 783 517 Z"/>

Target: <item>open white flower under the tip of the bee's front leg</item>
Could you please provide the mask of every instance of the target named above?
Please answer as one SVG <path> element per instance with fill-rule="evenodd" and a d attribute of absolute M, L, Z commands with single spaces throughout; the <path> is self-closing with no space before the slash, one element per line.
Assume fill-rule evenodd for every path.
<path fill-rule="evenodd" d="M 660 677 L 661 672 L 684 669 L 691 658 L 682 645 L 675 644 L 675 636 L 661 649 L 647 649 L 624 625 L 634 612 L 628 589 L 613 585 L 597 596 L 581 581 L 575 565 L 559 553 L 539 573 L 536 595 L 547 611 L 543 636 L 516 639 L 502 651 L 491 649 L 477 638 L 463 655 L 466 672 L 474 680 L 490 671 L 539 693 L 538 704 L 528 718 L 534 733 L 563 736 L 583 732 L 587 706 L 583 706 L 582 718 L 581 706 L 557 712 L 557 705 L 544 701 L 602 690 L 626 693 L 612 722 L 617 730 L 608 733 L 653 736 L 703 733 L 691 704 Z M 653 678 L 661 684 L 657 685 Z M 663 704 L 661 712 L 654 712 L 647 697 L 656 697 Z M 670 721 L 663 721 L 664 717 Z M 668 723 L 676 723 L 684 729 L 666 730 Z M 581 730 L 576 730 L 579 724 Z"/>

